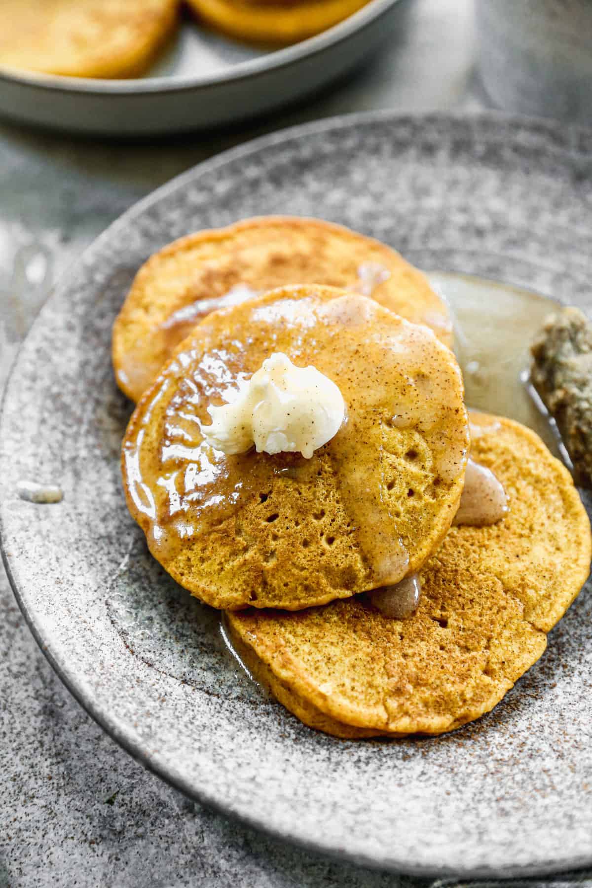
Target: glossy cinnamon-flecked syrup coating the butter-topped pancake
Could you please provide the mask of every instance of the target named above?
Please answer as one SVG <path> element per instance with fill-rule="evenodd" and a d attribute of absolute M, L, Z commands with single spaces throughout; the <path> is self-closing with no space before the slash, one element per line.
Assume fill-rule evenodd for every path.
<path fill-rule="evenodd" d="M 286 296 L 245 306 L 225 337 L 214 323 L 217 341 L 224 340 L 221 347 L 201 354 L 190 344 L 178 354 L 124 448 L 130 496 L 160 559 L 174 559 L 187 539 L 209 533 L 270 487 L 295 480 L 320 487 L 323 473 L 333 472 L 367 570 L 367 587 L 398 583 L 406 575 L 407 550 L 384 496 L 383 437 L 392 405 L 405 405 L 401 422 L 422 432 L 444 480 L 462 471 L 466 440 L 462 428 L 442 433 L 442 385 L 450 381 L 442 377 L 430 339 L 409 326 L 393 332 L 382 315 L 374 303 L 352 296 L 327 302 Z M 359 356 L 368 330 L 373 361 Z M 309 461 L 254 451 L 226 456 L 201 440 L 199 421 L 208 424 L 209 402 L 229 400 L 236 382 L 272 351 L 288 353 L 301 366 L 314 363 L 343 393 L 347 421 Z M 180 377 L 176 388 L 173 375 Z M 149 425 L 154 410 L 159 421 Z"/>

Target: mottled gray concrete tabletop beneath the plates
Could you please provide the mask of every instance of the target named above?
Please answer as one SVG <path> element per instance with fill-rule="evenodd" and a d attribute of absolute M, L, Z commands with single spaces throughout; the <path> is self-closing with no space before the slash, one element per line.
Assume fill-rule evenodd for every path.
<path fill-rule="evenodd" d="M 0 124 L 0 385 L 52 282 L 122 210 L 179 171 L 304 120 L 376 107 L 486 107 L 473 71 L 471 12 L 470 0 L 415 0 L 407 34 L 364 71 L 241 131 L 147 145 Z M 146 773 L 61 685 L 2 573 L 0 786 L 0 888 L 422 884 L 258 835 Z"/>

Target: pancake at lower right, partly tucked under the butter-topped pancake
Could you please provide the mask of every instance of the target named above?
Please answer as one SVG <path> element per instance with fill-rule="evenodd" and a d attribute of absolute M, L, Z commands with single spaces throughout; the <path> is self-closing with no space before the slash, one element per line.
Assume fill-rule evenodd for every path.
<path fill-rule="evenodd" d="M 539 659 L 585 583 L 590 526 L 569 472 L 524 426 L 470 419 L 471 456 L 502 481 L 510 511 L 490 527 L 450 529 L 422 569 L 412 617 L 389 619 L 365 596 L 228 614 L 249 669 L 304 724 L 398 736 L 478 718 Z"/>

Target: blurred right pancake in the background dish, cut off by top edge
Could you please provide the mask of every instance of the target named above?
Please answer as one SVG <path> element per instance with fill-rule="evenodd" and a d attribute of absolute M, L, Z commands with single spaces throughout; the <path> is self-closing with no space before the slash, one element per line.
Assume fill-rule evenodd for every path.
<path fill-rule="evenodd" d="M 332 28 L 368 0 L 188 0 L 211 28 L 253 43 L 294 44 Z"/>

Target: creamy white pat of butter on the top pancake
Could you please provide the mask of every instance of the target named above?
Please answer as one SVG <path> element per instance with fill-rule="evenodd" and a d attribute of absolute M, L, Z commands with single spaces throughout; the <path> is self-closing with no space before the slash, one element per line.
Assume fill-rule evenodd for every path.
<path fill-rule="evenodd" d="M 295 367 L 287 355 L 272 354 L 239 384 L 233 401 L 210 406 L 211 425 L 201 425 L 210 447 L 227 454 L 313 452 L 343 423 L 345 403 L 334 382 L 314 367 Z"/>

